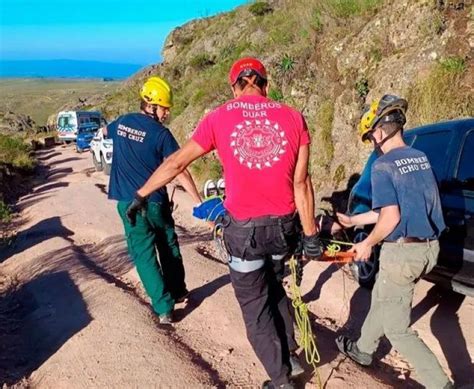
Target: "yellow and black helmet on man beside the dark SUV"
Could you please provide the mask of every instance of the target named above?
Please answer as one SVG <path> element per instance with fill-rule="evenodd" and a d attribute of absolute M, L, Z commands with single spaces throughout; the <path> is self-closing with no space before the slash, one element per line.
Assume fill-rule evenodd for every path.
<path fill-rule="evenodd" d="M 369 135 L 380 123 L 406 123 L 408 102 L 394 95 L 384 95 L 373 101 L 364 111 L 359 124 L 359 135 L 364 143 L 370 143 Z"/>

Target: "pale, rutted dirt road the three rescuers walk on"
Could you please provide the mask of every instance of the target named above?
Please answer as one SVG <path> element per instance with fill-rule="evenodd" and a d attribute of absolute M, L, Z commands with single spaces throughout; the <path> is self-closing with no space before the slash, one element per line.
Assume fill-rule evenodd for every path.
<path fill-rule="evenodd" d="M 177 230 L 192 290 L 173 330 L 155 321 L 128 260 L 107 177 L 89 153 L 39 152 L 45 178 L 19 202 L 18 238 L 0 253 L 0 385 L 39 388 L 258 387 L 266 379 L 245 336 L 226 266 L 209 230 L 177 192 Z M 311 309 L 326 388 L 417 388 L 387 343 L 373 367 L 342 358 L 334 338 L 357 333 L 370 294 L 346 269 L 312 262 L 304 299 Z M 422 281 L 414 327 L 459 383 L 474 384 L 474 299 Z M 344 328 L 343 328 L 344 327 Z M 314 388 L 308 373 L 301 386 Z"/>

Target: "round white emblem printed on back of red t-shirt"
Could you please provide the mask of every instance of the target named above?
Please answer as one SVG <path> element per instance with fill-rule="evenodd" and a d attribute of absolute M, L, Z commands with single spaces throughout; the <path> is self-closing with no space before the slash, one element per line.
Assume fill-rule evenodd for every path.
<path fill-rule="evenodd" d="M 286 153 L 288 141 L 278 123 L 268 119 L 245 120 L 231 133 L 230 147 L 249 169 L 271 168 Z"/>

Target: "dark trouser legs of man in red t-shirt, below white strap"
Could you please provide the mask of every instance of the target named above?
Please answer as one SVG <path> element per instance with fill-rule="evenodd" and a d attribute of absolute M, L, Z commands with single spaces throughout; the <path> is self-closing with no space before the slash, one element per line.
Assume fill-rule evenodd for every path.
<path fill-rule="evenodd" d="M 291 303 L 281 283 L 283 260 L 265 260 L 250 272 L 230 268 L 235 296 L 242 309 L 247 337 L 275 385 L 289 382 L 290 351 L 294 339 Z"/>

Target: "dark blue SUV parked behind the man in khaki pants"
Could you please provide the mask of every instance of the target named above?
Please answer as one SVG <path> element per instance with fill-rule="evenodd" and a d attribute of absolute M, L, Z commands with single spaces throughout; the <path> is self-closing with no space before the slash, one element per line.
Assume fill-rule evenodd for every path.
<path fill-rule="evenodd" d="M 447 229 L 440 238 L 438 265 L 425 278 L 474 296 L 474 118 L 430 124 L 406 130 L 405 142 L 423 151 L 438 181 Z M 375 153 L 351 190 L 348 213 L 371 208 L 370 172 Z M 416 190 L 416 188 L 414 188 Z M 364 239 L 372 226 L 354 229 L 354 241 Z M 378 271 L 378 250 L 371 260 L 353 265 L 362 286 L 371 286 Z"/>

